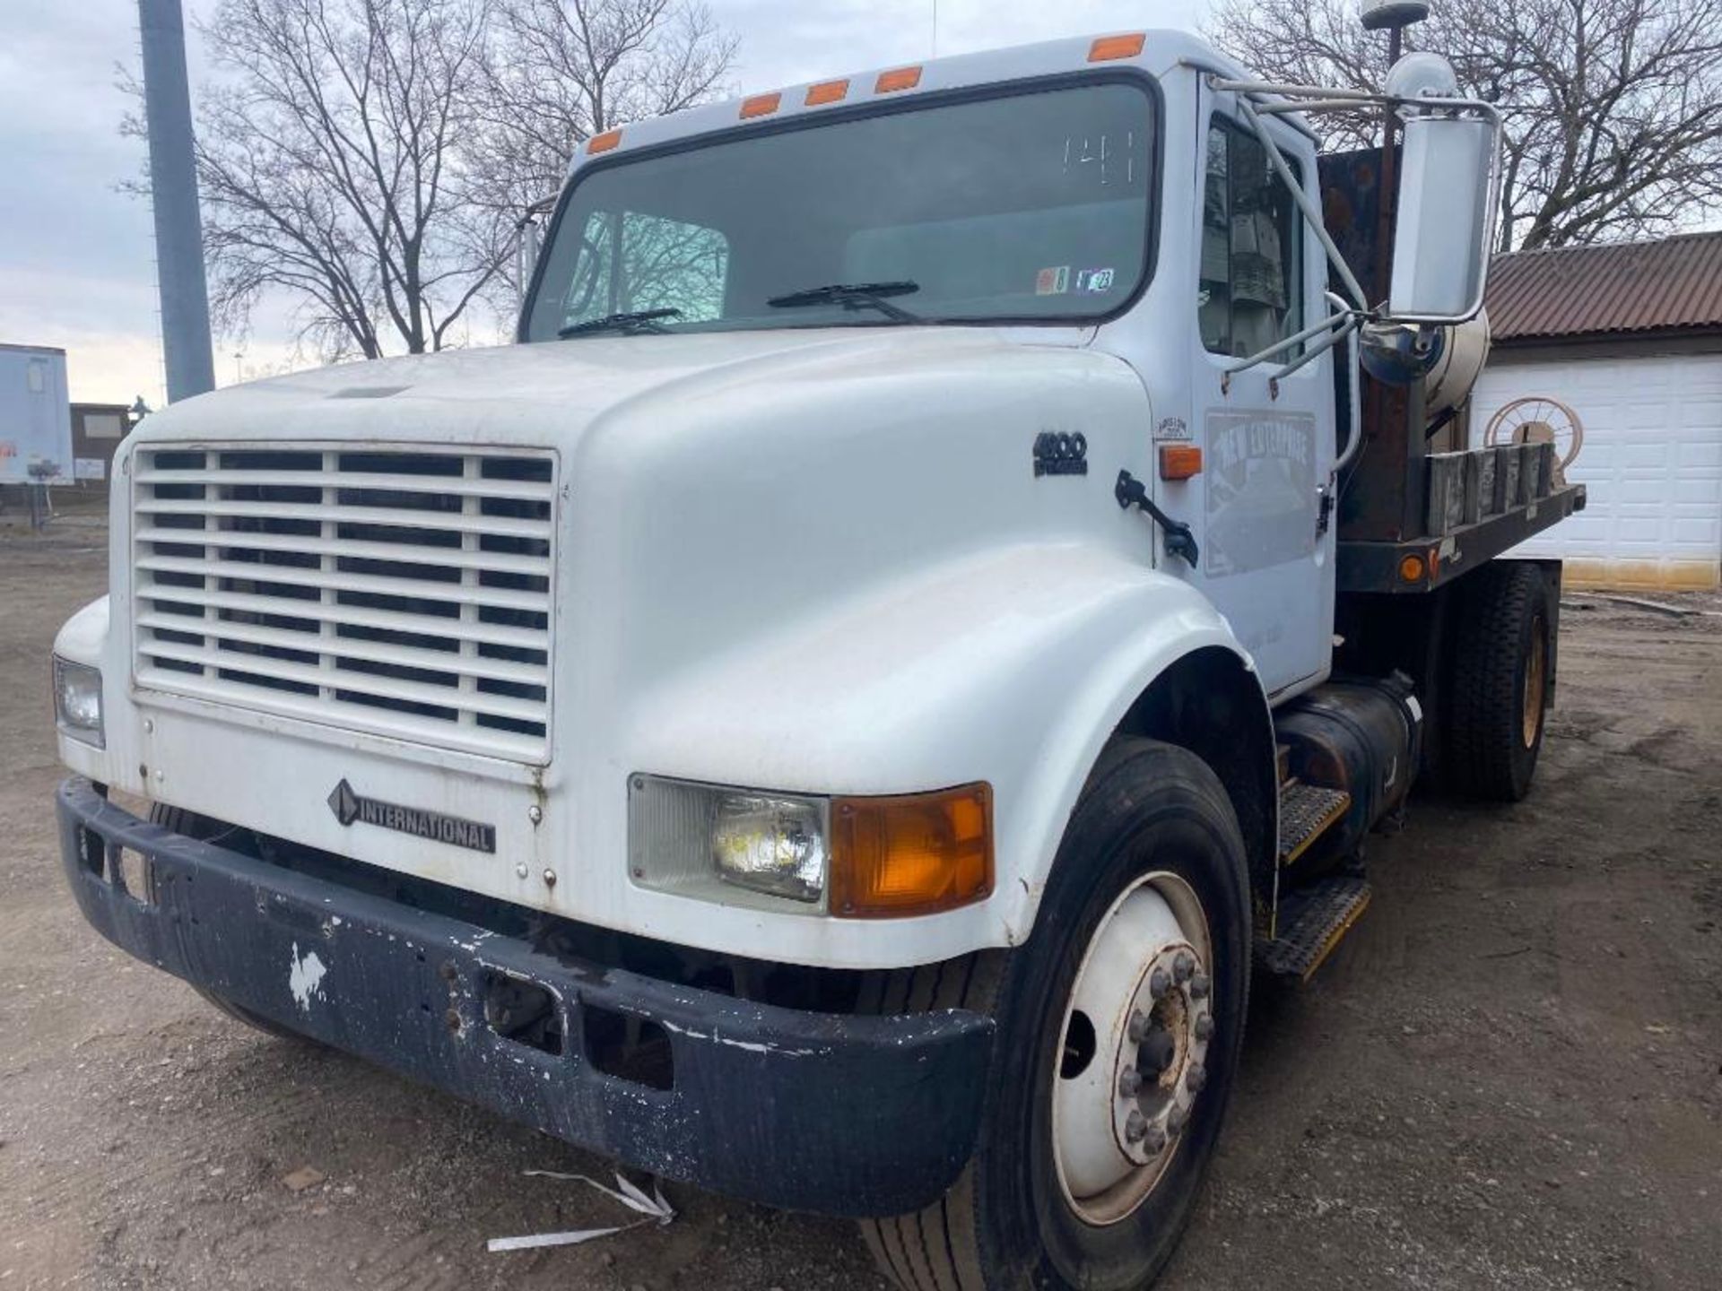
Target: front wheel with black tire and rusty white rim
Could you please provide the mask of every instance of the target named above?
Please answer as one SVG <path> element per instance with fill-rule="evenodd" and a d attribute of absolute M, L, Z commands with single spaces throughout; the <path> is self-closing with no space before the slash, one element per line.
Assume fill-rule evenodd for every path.
<path fill-rule="evenodd" d="M 863 1232 L 904 1291 L 1140 1288 L 1190 1219 L 1231 1096 L 1250 899 L 1226 792 L 1119 740 L 1071 814 L 1026 945 L 875 979 L 885 1010 L 997 1021 L 982 1141 L 956 1186 Z"/>

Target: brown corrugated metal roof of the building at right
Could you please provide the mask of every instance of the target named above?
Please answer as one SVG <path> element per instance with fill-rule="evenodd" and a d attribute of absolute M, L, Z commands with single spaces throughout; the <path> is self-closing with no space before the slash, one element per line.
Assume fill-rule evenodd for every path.
<path fill-rule="evenodd" d="M 1496 341 L 1722 327 L 1722 232 L 1498 255 Z"/>

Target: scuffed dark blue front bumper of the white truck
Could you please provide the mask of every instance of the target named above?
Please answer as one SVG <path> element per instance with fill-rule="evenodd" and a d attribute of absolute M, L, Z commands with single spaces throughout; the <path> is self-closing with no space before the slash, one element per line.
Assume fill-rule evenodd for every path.
<path fill-rule="evenodd" d="M 307 1036 L 668 1179 L 790 1210 L 897 1215 L 975 1148 L 992 1021 L 816 1014 L 570 962 L 186 838 L 67 780 L 60 854 L 84 917 L 122 950 Z M 117 874 L 141 856 L 148 900 Z M 486 1021 L 498 978 L 548 990 L 563 1052 Z M 598 1071 L 584 1009 L 654 1022 L 672 1088 Z"/>

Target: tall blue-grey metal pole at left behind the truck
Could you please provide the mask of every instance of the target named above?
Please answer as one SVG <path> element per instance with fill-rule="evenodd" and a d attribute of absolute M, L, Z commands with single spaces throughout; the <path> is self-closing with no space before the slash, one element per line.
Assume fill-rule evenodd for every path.
<path fill-rule="evenodd" d="M 203 277 L 203 220 L 186 83 L 186 24 L 179 0 L 138 0 L 143 110 L 150 134 L 150 207 L 162 294 L 167 401 L 215 389 L 210 298 Z"/>

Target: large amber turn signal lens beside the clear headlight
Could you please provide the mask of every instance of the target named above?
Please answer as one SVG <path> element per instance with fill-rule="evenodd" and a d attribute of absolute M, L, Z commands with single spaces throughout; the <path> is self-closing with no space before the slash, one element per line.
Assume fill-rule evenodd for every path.
<path fill-rule="evenodd" d="M 832 914 L 937 914 L 990 892 L 990 787 L 832 804 Z"/>

